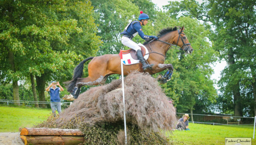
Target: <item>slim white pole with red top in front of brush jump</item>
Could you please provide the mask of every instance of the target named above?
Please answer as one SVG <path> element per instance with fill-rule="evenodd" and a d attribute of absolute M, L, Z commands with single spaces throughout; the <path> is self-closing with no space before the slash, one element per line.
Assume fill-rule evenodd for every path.
<path fill-rule="evenodd" d="M 127 145 L 127 134 L 126 134 L 126 119 L 125 119 L 125 86 L 124 86 L 124 71 L 122 64 L 122 51 L 120 51 L 121 58 L 121 73 L 122 73 L 122 93 L 123 93 L 123 105 L 124 105 L 124 122 L 125 122 L 125 145 Z"/>

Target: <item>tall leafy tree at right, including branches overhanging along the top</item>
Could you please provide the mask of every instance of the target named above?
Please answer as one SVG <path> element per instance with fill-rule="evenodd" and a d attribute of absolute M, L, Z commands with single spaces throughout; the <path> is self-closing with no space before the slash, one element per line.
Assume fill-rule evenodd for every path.
<path fill-rule="evenodd" d="M 209 38 L 220 52 L 220 60 L 228 62 L 218 82 L 218 106 L 235 116 L 253 115 L 252 110 L 256 114 L 255 4 L 255 0 L 208 0 L 199 5 L 195 0 L 183 0 L 166 6 L 174 8 L 169 12 L 175 17 L 196 17 L 209 22 L 207 28 L 213 26 Z"/>

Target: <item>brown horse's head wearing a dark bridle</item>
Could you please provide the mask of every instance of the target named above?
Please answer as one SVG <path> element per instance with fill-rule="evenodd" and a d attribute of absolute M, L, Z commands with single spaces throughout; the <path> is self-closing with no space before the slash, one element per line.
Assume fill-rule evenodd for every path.
<path fill-rule="evenodd" d="M 180 48 L 184 50 L 186 54 L 190 54 L 193 52 L 193 48 L 189 43 L 189 40 L 186 37 L 185 33 L 183 32 L 184 29 L 184 26 L 182 26 L 181 29 L 177 30 L 177 35 L 174 38 L 174 43 L 177 44 L 177 46 L 180 46 Z"/>

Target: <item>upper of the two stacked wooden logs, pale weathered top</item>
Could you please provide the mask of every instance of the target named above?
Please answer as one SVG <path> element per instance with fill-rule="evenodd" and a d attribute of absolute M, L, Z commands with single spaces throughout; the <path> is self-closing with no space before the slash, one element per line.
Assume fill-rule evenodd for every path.
<path fill-rule="evenodd" d="M 22 128 L 20 135 L 42 135 L 42 136 L 83 136 L 78 129 L 59 128 Z"/>

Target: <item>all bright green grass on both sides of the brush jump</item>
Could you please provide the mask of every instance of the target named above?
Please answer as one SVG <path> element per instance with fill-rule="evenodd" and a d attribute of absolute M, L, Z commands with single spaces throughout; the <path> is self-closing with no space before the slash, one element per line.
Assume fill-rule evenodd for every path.
<path fill-rule="evenodd" d="M 18 132 L 46 120 L 50 109 L 0 106 L 0 132 Z M 190 131 L 173 131 L 175 145 L 224 145 L 225 137 L 253 137 L 253 126 L 204 125 L 189 123 Z M 168 132 L 166 132 L 168 136 Z M 256 145 L 256 139 L 252 139 Z"/>

